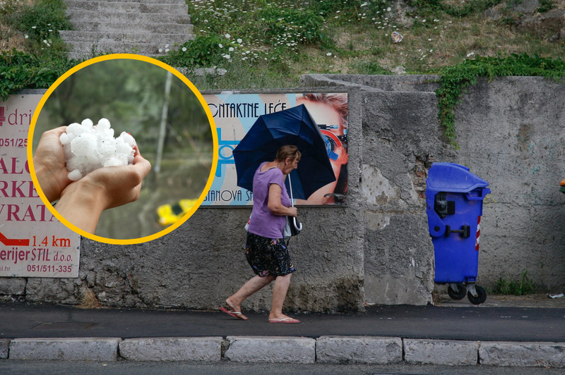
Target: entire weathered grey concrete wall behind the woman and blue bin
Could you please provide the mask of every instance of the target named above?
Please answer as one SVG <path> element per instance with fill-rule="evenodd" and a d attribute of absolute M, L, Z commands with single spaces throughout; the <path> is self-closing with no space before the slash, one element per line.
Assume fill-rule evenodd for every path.
<path fill-rule="evenodd" d="M 480 285 L 519 278 L 527 269 L 542 290 L 565 288 L 565 197 L 559 192 L 565 85 L 542 78 L 480 80 L 456 108 L 456 150 L 438 123 L 436 79 L 302 78 L 302 87 L 350 92 L 349 206 L 300 209 L 306 229 L 290 244 L 297 272 L 285 308 L 362 311 L 364 302 L 431 302 L 434 250 L 424 190 L 434 161 L 464 164 L 490 183 Z M 77 303 L 87 286 L 105 305 L 216 309 L 252 276 L 242 250 L 249 211 L 198 209 L 174 233 L 141 245 L 84 239 L 80 278 L 0 278 L 0 295 Z M 244 308 L 268 309 L 270 292 L 257 293 Z"/>

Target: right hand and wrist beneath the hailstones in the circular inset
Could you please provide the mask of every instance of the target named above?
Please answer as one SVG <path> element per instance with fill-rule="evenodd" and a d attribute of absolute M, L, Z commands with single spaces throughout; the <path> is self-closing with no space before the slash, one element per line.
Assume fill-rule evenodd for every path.
<path fill-rule="evenodd" d="M 98 168 L 68 185 L 57 203 L 59 214 L 74 226 L 94 233 L 102 211 L 136 201 L 151 164 L 135 149 L 133 165 Z"/>

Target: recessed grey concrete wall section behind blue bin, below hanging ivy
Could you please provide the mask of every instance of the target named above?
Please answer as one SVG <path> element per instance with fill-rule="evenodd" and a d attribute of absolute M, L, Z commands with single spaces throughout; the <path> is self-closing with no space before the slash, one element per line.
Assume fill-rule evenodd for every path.
<path fill-rule="evenodd" d="M 481 221 L 479 280 L 565 287 L 565 85 L 542 78 L 482 80 L 456 110 L 460 150 L 445 159 L 491 183 Z"/>

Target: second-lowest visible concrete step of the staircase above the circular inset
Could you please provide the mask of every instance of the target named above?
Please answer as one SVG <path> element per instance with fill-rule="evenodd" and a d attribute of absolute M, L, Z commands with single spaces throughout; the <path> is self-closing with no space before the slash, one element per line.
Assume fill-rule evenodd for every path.
<path fill-rule="evenodd" d="M 59 32 L 61 38 L 69 43 L 76 42 L 127 42 L 127 43 L 153 43 L 165 46 L 169 44 L 183 44 L 184 42 L 194 39 L 192 34 L 154 34 L 149 32 L 88 32 L 88 31 L 70 31 L 62 30 Z M 163 47 L 164 48 L 164 47 Z"/>

